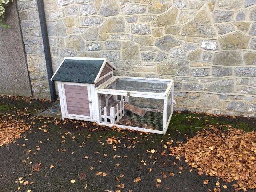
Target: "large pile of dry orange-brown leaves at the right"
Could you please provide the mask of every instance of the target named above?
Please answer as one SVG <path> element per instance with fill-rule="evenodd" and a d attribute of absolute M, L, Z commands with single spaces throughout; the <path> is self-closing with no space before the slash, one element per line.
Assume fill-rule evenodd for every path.
<path fill-rule="evenodd" d="M 184 156 L 189 165 L 224 181 L 236 180 L 237 190 L 256 188 L 256 132 L 216 127 L 198 132 L 179 147 L 170 147 L 173 156 Z M 177 157 L 179 158 L 179 157 Z"/>

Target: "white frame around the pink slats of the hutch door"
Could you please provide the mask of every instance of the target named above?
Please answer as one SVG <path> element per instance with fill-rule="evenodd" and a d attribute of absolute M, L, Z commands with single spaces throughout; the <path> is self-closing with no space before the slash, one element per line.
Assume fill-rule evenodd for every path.
<path fill-rule="evenodd" d="M 91 99 L 90 84 L 88 84 L 88 83 L 75 83 L 75 82 L 61 82 L 62 93 L 63 93 L 63 98 L 64 98 L 65 115 L 66 115 L 66 116 L 71 116 L 71 117 L 81 117 L 81 118 L 86 118 L 86 119 L 93 119 L 93 116 L 92 116 L 92 103 L 90 103 L 90 102 L 89 102 L 90 116 L 77 115 L 77 114 L 70 114 L 70 113 L 68 113 L 67 100 L 66 100 L 66 94 L 65 94 L 64 85 L 86 86 L 86 87 L 87 87 L 87 92 L 88 92 L 88 100 L 89 100 L 89 101 L 92 101 L 92 99 Z"/>

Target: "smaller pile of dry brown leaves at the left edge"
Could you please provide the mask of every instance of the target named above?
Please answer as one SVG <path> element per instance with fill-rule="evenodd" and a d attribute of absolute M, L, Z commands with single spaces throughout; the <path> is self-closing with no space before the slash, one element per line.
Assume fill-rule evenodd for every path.
<path fill-rule="evenodd" d="M 0 146 L 20 138 L 20 134 L 29 128 L 30 125 L 24 123 L 22 120 L 0 118 Z"/>

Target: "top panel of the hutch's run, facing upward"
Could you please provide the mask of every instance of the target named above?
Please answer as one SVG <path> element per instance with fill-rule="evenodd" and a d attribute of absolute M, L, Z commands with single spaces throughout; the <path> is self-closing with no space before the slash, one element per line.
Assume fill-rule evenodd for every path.
<path fill-rule="evenodd" d="M 115 82 L 108 86 L 107 89 L 116 89 L 124 91 L 140 91 L 140 92 L 154 92 L 164 93 L 168 87 L 169 81 L 154 81 L 150 82 L 142 79 L 125 79 L 118 78 Z"/>

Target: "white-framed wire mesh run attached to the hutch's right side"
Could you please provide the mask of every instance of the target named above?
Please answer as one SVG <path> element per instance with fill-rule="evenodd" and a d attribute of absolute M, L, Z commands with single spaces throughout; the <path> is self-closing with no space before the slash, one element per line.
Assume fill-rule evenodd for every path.
<path fill-rule="evenodd" d="M 172 116 L 173 80 L 115 77 L 98 89 L 100 123 L 165 134 Z"/>

